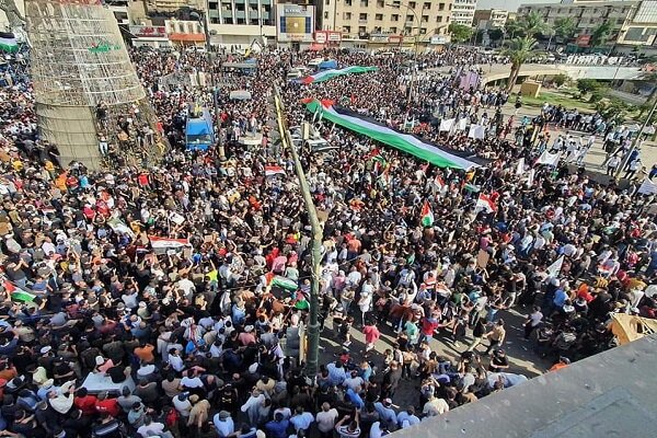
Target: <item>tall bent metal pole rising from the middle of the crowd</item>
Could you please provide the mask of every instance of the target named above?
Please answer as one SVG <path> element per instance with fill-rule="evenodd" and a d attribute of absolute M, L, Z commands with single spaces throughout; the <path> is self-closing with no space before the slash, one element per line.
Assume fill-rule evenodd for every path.
<path fill-rule="evenodd" d="M 280 140 L 283 142 L 283 147 L 287 147 L 292 154 L 292 160 L 295 161 L 295 171 L 297 173 L 297 177 L 299 178 L 299 188 L 301 191 L 301 196 L 303 197 L 303 204 L 306 207 L 306 212 L 308 214 L 308 220 L 310 221 L 310 229 L 312 232 L 310 321 L 307 332 L 306 370 L 308 372 L 308 377 L 314 379 L 319 370 L 320 356 L 320 324 L 318 322 L 318 316 L 320 311 L 320 264 L 322 262 L 322 239 L 324 237 L 324 231 L 318 218 L 318 210 L 315 209 L 312 200 L 312 194 L 310 193 L 310 187 L 308 186 L 308 181 L 306 180 L 306 173 L 303 172 L 303 166 L 299 160 L 299 154 L 297 153 L 295 143 L 290 138 L 290 131 L 287 127 L 287 120 L 285 119 L 285 107 L 283 105 L 283 100 L 280 99 L 280 93 L 277 87 L 274 89 L 274 101 L 276 103 L 276 118 L 278 120 Z"/>

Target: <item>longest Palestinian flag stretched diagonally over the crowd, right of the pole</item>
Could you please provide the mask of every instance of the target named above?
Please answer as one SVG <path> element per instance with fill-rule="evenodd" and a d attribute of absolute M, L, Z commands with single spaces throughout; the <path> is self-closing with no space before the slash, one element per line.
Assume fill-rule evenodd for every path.
<path fill-rule="evenodd" d="M 468 152 L 453 151 L 451 149 L 448 151 L 447 148 L 438 147 L 413 135 L 400 132 L 346 108 L 335 107 L 332 104 L 328 105 L 330 101 L 320 102 L 314 99 L 308 99 L 302 102 L 309 112 L 313 114 L 320 112 L 328 122 L 410 153 L 423 161 L 428 161 L 438 168 L 468 170 L 479 166 L 477 163 L 469 159 L 471 154 Z"/>

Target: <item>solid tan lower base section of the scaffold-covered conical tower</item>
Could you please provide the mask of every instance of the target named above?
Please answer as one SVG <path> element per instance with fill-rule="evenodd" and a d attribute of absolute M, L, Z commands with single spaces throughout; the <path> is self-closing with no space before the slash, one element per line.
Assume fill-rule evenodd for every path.
<path fill-rule="evenodd" d="M 91 107 L 37 103 L 36 116 L 42 136 L 59 148 L 64 166 L 76 160 L 89 169 L 100 169 L 101 154 Z"/>

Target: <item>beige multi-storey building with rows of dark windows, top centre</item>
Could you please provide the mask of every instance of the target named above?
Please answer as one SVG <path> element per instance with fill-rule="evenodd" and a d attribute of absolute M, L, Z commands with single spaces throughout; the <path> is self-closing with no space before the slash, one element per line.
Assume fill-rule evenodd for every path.
<path fill-rule="evenodd" d="M 452 0 L 322 1 L 318 20 L 322 30 L 343 32 L 345 39 L 372 42 L 401 41 L 403 35 L 426 35 L 426 39 L 445 35 L 452 9 Z"/>

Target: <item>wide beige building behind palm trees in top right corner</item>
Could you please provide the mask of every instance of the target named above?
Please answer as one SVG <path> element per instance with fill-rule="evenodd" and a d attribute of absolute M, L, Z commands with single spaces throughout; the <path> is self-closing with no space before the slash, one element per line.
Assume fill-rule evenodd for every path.
<path fill-rule="evenodd" d="M 554 25 L 556 20 L 575 20 L 577 43 L 587 46 L 593 28 L 604 22 L 613 25 L 611 42 L 621 45 L 653 46 L 657 35 L 657 0 L 643 1 L 577 1 L 562 0 L 561 3 L 521 4 L 518 15 L 537 12 L 545 23 Z"/>

